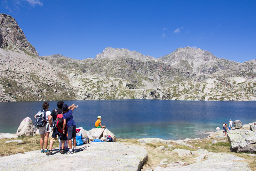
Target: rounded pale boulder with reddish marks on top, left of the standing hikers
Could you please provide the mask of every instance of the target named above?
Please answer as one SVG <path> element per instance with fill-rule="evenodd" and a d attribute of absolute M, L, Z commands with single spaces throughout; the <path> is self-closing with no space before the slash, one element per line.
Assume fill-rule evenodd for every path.
<path fill-rule="evenodd" d="M 27 117 L 23 119 L 20 123 L 20 126 L 17 130 L 17 136 L 33 136 L 34 129 L 36 129 L 31 118 Z"/>

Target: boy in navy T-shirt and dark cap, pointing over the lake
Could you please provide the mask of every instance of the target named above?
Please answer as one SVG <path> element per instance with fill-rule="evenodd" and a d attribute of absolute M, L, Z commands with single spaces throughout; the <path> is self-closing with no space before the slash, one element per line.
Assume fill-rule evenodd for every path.
<path fill-rule="evenodd" d="M 62 105 L 62 109 L 64 111 L 63 114 L 63 128 L 62 132 L 63 134 L 67 134 L 68 136 L 68 144 L 69 144 L 69 151 L 66 154 L 73 154 L 76 152 L 76 123 L 73 120 L 73 111 L 75 109 L 75 104 L 68 107 L 67 104 Z M 72 108 L 72 109 L 70 109 Z M 65 127 L 68 126 L 68 131 L 66 132 Z M 74 148 L 72 149 L 72 140 L 74 142 Z"/>

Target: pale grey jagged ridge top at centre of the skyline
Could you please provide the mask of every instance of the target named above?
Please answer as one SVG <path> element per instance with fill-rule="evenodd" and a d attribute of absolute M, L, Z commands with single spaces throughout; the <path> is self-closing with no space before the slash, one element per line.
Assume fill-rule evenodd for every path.
<path fill-rule="evenodd" d="M 137 51 L 129 51 L 128 49 L 114 49 L 107 47 L 102 53 L 99 53 L 96 55 L 95 59 L 100 59 L 100 58 L 116 58 L 116 57 L 131 57 L 137 60 L 148 60 L 148 59 L 155 59 L 154 57 L 151 56 L 145 56 L 142 55 L 140 52 Z"/>

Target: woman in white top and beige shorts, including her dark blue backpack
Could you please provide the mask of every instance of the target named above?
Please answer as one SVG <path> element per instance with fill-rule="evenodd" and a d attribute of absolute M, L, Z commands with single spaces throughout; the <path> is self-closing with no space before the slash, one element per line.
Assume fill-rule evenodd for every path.
<path fill-rule="evenodd" d="M 48 108 L 49 108 L 48 102 L 44 102 L 42 107 L 43 107 L 43 110 L 39 111 L 35 115 L 35 118 L 36 118 L 35 126 L 39 128 L 39 134 L 41 135 L 41 138 L 40 138 L 41 153 L 46 153 L 49 151 L 47 149 L 48 138 L 49 138 L 50 132 L 52 132 L 52 128 L 48 121 L 48 115 L 50 115 L 51 112 L 48 111 Z"/>

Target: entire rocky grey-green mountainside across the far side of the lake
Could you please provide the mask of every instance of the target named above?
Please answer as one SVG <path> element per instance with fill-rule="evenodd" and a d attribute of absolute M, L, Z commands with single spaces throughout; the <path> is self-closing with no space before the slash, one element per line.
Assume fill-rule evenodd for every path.
<path fill-rule="evenodd" d="M 0 101 L 256 99 L 256 61 L 179 48 L 159 59 L 106 48 L 95 59 L 39 57 L 15 19 L 0 14 Z"/>

